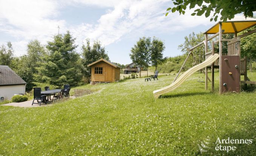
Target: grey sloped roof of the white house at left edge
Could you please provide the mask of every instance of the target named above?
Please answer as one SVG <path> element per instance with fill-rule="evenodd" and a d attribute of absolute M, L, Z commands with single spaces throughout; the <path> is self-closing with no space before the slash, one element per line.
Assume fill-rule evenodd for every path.
<path fill-rule="evenodd" d="M 26 82 L 8 66 L 0 65 L 0 86 L 11 86 L 18 84 L 26 84 Z"/>

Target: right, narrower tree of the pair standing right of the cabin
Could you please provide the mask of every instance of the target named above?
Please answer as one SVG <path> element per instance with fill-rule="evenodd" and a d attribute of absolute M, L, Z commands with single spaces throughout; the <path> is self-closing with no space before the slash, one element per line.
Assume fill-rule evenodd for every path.
<path fill-rule="evenodd" d="M 153 37 L 151 48 L 150 48 L 150 61 L 152 66 L 155 66 L 155 71 L 158 65 L 161 65 L 166 58 L 163 58 L 163 51 L 165 49 L 164 42 Z"/>

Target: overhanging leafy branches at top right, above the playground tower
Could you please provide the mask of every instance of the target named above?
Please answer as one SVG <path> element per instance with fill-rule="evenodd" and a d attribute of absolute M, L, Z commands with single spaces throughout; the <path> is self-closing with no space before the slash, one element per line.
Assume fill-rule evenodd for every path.
<path fill-rule="evenodd" d="M 220 17 L 224 22 L 231 20 L 235 17 L 236 14 L 242 13 L 245 18 L 253 17 L 253 11 L 256 11 L 256 2 L 253 0 L 172 0 L 175 7 L 169 7 L 167 9 L 166 16 L 169 12 L 179 12 L 179 14 L 185 14 L 185 10 L 189 5 L 189 9 L 195 8 L 196 5 L 199 9 L 195 9 L 194 13 L 191 15 L 205 15 L 205 17 L 209 17 L 211 12 L 213 16 L 210 21 L 214 19 L 214 21 L 218 20 Z M 203 5 L 204 3 L 204 5 Z"/>

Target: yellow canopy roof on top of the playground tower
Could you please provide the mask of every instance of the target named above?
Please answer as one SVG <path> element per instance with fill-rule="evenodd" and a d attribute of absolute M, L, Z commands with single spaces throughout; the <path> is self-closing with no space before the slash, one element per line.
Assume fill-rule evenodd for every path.
<path fill-rule="evenodd" d="M 226 33 L 239 33 L 249 27 L 256 25 L 256 20 L 248 20 L 248 21 L 227 21 L 222 22 L 219 21 L 209 30 L 205 31 L 204 34 L 216 34 L 219 32 L 219 23 L 222 23 L 222 30 L 224 30 L 224 34 Z"/>

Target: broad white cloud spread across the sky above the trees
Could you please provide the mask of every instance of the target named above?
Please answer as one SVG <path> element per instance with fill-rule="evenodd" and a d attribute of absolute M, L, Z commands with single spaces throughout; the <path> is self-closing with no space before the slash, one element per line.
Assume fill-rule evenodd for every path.
<path fill-rule="evenodd" d="M 166 8 L 171 5 L 169 0 L 0 0 L 0 4 L 0 33 L 14 37 L 12 43 L 16 55 L 24 54 L 32 39 L 46 44 L 58 32 L 58 26 L 61 33 L 70 30 L 78 45 L 87 37 L 109 45 L 124 36 L 141 37 L 146 31 L 175 33 L 201 24 L 213 24 L 209 18 L 192 17 L 192 10 L 187 10 L 185 15 L 169 13 L 165 17 Z M 84 21 L 75 25 L 65 19 L 57 20 L 60 9 L 69 6 L 108 10 L 95 19 L 95 24 Z"/>

